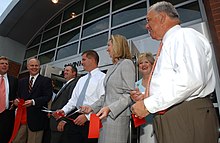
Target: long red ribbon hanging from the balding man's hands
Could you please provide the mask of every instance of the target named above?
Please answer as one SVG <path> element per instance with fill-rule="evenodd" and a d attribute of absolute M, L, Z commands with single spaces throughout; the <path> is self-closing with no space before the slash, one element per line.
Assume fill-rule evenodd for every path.
<path fill-rule="evenodd" d="M 27 124 L 27 110 L 26 107 L 23 106 L 24 100 L 23 99 L 18 99 L 18 100 L 19 102 L 18 102 L 17 113 L 15 116 L 14 129 L 9 143 L 11 143 L 16 137 L 18 130 L 20 128 L 20 124 Z"/>

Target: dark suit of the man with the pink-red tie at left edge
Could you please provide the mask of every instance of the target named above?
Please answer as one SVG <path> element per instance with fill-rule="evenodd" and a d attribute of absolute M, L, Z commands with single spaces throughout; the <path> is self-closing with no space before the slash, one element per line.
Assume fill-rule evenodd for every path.
<path fill-rule="evenodd" d="M 9 101 L 14 100 L 17 97 L 18 80 L 13 76 L 8 75 L 9 83 Z M 9 103 L 9 108 L 12 103 Z M 8 143 L 10 140 L 15 119 L 15 109 L 6 109 L 0 113 L 0 143 Z"/>

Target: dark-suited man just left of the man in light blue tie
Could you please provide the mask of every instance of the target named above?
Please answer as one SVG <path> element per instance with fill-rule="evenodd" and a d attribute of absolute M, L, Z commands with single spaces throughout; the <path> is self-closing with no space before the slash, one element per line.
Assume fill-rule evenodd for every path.
<path fill-rule="evenodd" d="M 59 90 L 57 95 L 52 100 L 51 110 L 55 111 L 62 108 L 68 100 L 71 98 L 72 91 L 76 86 L 78 81 L 77 68 L 72 64 L 65 65 L 64 68 L 64 78 L 66 83 Z M 50 129 L 51 129 L 51 143 L 61 143 L 63 132 L 58 131 L 57 127 L 64 126 L 68 121 L 61 119 L 56 120 L 53 116 L 50 118 Z"/>

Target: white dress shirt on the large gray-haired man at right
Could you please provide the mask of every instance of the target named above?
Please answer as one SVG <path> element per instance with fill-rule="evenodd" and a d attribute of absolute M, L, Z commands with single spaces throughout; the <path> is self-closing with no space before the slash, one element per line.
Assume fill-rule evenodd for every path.
<path fill-rule="evenodd" d="M 205 97 L 215 88 L 212 50 L 204 35 L 192 28 L 172 27 L 150 83 L 147 110 L 155 113 L 182 101 Z"/>

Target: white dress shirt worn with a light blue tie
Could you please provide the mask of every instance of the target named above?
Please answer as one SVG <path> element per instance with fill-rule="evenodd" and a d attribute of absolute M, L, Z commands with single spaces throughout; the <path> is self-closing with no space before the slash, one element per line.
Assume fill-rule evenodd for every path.
<path fill-rule="evenodd" d="M 91 78 L 86 90 L 86 96 L 83 101 L 83 105 L 91 105 L 95 101 L 97 101 L 101 95 L 105 93 L 103 81 L 105 78 L 105 74 L 101 72 L 98 68 L 92 70 L 91 72 Z M 68 114 L 70 111 L 76 108 L 76 103 L 79 98 L 79 95 L 82 91 L 82 88 L 88 78 L 88 74 L 81 77 L 78 82 L 76 83 L 76 86 L 72 92 L 72 96 L 68 103 L 62 108 L 62 110 L 65 112 L 65 114 Z M 87 119 L 89 120 L 89 115 L 86 115 Z"/>

